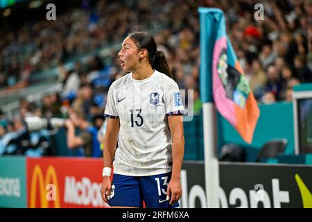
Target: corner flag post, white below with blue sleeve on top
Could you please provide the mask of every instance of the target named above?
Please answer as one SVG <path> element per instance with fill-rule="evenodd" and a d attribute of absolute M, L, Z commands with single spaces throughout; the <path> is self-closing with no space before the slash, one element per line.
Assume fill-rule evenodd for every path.
<path fill-rule="evenodd" d="M 212 54 L 216 40 L 216 8 L 198 8 L 200 15 L 200 99 L 203 112 L 205 189 L 207 207 L 219 208 L 219 163 L 217 155 L 216 108 L 212 97 Z"/>

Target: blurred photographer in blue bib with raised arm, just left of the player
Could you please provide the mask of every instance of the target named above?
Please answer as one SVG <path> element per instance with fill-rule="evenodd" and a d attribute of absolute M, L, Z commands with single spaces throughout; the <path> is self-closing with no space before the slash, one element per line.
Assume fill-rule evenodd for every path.
<path fill-rule="evenodd" d="M 86 157 L 96 157 L 96 151 L 99 150 L 100 144 L 96 139 L 96 127 L 92 126 L 85 118 L 83 110 L 69 110 L 69 119 L 65 121 L 67 127 L 67 146 L 70 149 L 83 146 Z M 75 135 L 76 128 L 80 130 Z"/>

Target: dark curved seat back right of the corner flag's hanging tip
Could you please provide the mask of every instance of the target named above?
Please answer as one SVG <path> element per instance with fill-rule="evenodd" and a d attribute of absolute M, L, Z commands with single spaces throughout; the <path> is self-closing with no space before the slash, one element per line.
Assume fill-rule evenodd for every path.
<path fill-rule="evenodd" d="M 277 157 L 279 153 L 284 153 L 287 143 L 287 139 L 273 139 L 267 142 L 259 151 L 256 162 L 260 162 L 262 157 L 274 158 Z"/>

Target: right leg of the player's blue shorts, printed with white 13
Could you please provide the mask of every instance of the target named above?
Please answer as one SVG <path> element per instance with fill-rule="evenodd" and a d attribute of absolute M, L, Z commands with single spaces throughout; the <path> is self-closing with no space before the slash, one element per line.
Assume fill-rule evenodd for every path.
<path fill-rule="evenodd" d="M 140 178 L 140 186 L 146 207 L 152 208 L 176 208 L 179 203 L 169 204 L 167 200 L 167 187 L 171 180 L 171 172 L 155 176 L 144 176 Z"/>

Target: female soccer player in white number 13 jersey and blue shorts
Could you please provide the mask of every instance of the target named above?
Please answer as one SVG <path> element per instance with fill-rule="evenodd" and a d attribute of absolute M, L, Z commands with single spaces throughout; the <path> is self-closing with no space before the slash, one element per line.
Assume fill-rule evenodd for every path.
<path fill-rule="evenodd" d="M 102 198 L 111 207 L 142 207 L 143 200 L 146 207 L 178 207 L 184 155 L 179 88 L 150 34 L 130 33 L 118 56 L 130 73 L 107 95 Z"/>

